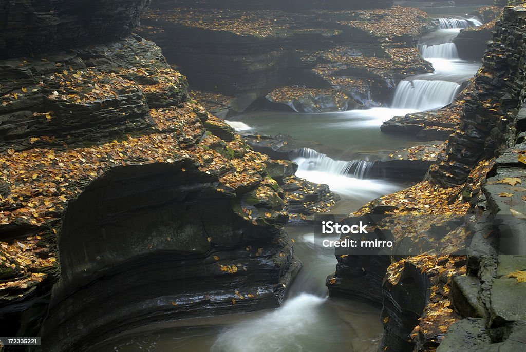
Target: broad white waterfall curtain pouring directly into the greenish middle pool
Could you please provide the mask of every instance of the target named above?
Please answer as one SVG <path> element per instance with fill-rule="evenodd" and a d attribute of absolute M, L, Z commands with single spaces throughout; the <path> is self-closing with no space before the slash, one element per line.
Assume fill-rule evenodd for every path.
<path fill-rule="evenodd" d="M 392 107 L 419 111 L 441 108 L 453 101 L 460 85 L 442 80 L 402 80 L 395 91 Z"/>

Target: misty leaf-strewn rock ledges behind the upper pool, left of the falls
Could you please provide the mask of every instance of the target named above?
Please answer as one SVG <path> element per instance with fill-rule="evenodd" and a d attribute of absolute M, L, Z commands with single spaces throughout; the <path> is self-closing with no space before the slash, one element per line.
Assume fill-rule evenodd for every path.
<path fill-rule="evenodd" d="M 416 9 L 251 12 L 228 3 L 183 5 L 154 3 L 139 33 L 155 40 L 195 89 L 235 97 L 231 114 L 268 108 L 268 100 L 298 111 L 381 105 L 396 80 L 432 71 L 414 47 L 432 24 Z M 308 88 L 310 98 L 295 86 Z M 274 99 L 284 89 L 295 94 Z"/>

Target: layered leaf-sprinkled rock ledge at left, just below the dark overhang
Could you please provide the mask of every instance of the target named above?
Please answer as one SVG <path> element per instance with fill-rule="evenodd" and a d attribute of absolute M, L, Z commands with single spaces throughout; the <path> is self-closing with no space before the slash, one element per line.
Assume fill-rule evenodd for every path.
<path fill-rule="evenodd" d="M 122 68 L 133 61 L 141 65 L 151 63 L 149 70 L 153 73 L 166 65 L 164 58 L 158 60 L 159 57 L 160 49 L 154 43 L 135 37 L 73 53 L 48 55 L 45 61 L 1 61 L 4 87 L 19 93 L 16 99 L 4 96 L 0 104 L 0 135 L 4 136 L 0 151 L 63 144 L 82 147 L 149 132 L 155 126 L 149 109 L 168 105 L 168 101 L 176 105 L 183 101 L 186 80 L 174 77 L 169 91 L 143 91 L 133 82 L 146 74 L 130 75 Z M 106 91 L 96 99 L 91 96 L 94 88 L 89 84 L 100 76 L 100 70 L 104 71 L 100 85 Z M 35 77 L 40 77 L 42 84 Z M 81 92 L 64 90 L 65 80 L 72 80 Z"/>

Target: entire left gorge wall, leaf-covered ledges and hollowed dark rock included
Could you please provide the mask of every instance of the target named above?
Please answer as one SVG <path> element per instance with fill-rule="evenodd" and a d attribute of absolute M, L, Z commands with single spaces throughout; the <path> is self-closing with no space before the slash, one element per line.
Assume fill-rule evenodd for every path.
<path fill-rule="evenodd" d="M 131 34 L 146 5 L 1 5 L 0 320 L 42 350 L 278 306 L 289 210 L 337 199 L 189 98 Z"/>

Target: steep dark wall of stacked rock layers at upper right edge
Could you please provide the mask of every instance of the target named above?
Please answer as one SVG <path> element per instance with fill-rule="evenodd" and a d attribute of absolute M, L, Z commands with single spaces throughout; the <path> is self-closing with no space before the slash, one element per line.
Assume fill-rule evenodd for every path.
<path fill-rule="evenodd" d="M 442 187 L 466 181 L 470 170 L 484 158 L 498 156 L 513 145 L 519 102 L 524 92 L 523 26 L 521 7 L 504 10 L 476 76 L 473 91 L 464 103 L 460 131 L 431 170 L 431 180 Z"/>

